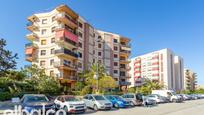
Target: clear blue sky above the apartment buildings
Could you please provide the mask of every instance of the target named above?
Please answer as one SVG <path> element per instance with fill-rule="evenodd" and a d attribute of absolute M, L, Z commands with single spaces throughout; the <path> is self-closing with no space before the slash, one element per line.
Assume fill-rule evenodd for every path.
<path fill-rule="evenodd" d="M 0 38 L 25 61 L 27 17 L 67 4 L 97 29 L 131 38 L 131 57 L 169 48 L 204 84 L 203 0 L 0 0 Z"/>

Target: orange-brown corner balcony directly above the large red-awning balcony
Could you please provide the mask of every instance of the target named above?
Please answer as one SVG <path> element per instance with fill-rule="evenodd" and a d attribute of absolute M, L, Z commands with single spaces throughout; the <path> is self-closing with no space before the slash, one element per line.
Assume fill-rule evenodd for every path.
<path fill-rule="evenodd" d="M 77 28 L 77 22 L 74 19 L 67 16 L 65 13 L 58 14 L 56 16 L 56 20 L 70 26 L 73 29 Z"/>

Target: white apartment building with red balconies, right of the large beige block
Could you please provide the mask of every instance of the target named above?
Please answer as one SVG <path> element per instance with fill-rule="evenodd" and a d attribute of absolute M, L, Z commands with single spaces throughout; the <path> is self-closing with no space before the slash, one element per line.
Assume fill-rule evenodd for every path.
<path fill-rule="evenodd" d="M 129 65 L 130 87 L 141 86 L 147 78 L 163 84 L 165 89 L 183 89 L 183 59 L 170 49 L 132 58 Z"/>

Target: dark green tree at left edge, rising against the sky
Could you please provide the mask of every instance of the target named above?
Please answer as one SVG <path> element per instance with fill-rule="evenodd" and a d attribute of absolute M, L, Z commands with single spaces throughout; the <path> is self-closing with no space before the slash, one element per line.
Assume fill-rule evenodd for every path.
<path fill-rule="evenodd" d="M 6 40 L 0 39 L 0 77 L 4 76 L 9 70 L 15 69 L 17 54 L 5 49 Z"/>

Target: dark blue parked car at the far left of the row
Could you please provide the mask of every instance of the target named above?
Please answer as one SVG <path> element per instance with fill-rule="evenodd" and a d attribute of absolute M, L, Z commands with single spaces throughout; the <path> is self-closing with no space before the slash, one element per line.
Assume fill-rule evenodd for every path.
<path fill-rule="evenodd" d="M 45 110 L 55 110 L 55 104 L 43 95 L 43 94 L 25 94 L 21 99 L 21 106 L 27 112 L 32 112 L 33 110 L 43 110 L 43 105 Z"/>

